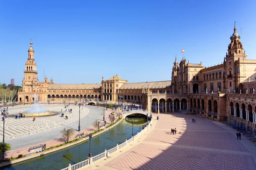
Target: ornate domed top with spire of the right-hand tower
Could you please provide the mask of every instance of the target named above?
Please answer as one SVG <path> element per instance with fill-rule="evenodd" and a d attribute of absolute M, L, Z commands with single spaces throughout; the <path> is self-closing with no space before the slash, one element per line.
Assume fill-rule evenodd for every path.
<path fill-rule="evenodd" d="M 230 36 L 230 44 L 228 45 L 226 59 L 233 58 L 238 60 L 239 58 L 246 59 L 245 51 L 242 42 L 240 42 L 240 35 L 236 32 L 236 21 L 234 26 L 234 33 Z"/>

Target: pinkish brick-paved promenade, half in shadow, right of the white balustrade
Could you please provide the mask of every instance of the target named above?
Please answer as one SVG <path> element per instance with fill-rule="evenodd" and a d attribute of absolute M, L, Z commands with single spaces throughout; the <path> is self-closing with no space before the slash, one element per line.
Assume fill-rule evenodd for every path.
<path fill-rule="evenodd" d="M 156 118 L 157 114 L 153 115 Z M 255 170 L 256 147 L 221 122 L 160 114 L 131 145 L 84 170 Z M 192 118 L 196 123 L 192 123 Z M 177 134 L 171 133 L 177 128 Z"/>

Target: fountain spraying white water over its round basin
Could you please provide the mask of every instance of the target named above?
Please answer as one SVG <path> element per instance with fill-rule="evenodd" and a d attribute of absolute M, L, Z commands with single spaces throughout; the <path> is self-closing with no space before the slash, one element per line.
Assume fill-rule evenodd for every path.
<path fill-rule="evenodd" d="M 48 116 L 55 114 L 55 112 L 45 110 L 42 105 L 37 103 L 36 94 L 34 95 L 34 104 L 31 106 L 31 108 L 20 113 L 25 116 Z"/>

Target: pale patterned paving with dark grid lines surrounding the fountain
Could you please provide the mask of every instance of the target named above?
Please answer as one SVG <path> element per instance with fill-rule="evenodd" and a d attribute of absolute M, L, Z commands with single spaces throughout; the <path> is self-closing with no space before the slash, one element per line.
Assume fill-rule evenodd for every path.
<path fill-rule="evenodd" d="M 20 111 L 24 111 L 27 108 L 10 108 L 9 116 L 5 119 L 5 139 L 12 139 L 21 136 L 27 136 L 39 132 L 43 132 L 45 130 L 50 130 L 55 127 L 59 127 L 61 125 L 68 124 L 70 122 L 74 122 L 79 119 L 79 107 L 78 106 L 70 106 L 67 109 L 73 109 L 73 113 L 62 112 L 64 116 L 68 116 L 68 119 L 64 119 L 64 117 L 60 117 L 61 109 L 64 111 L 63 105 L 44 105 L 45 109 L 48 111 L 55 111 L 58 114 L 52 116 L 38 116 L 36 117 L 35 122 L 32 121 L 32 117 L 26 117 L 21 119 L 15 119 L 15 115 Z M 80 108 L 80 118 L 86 116 L 88 110 L 82 107 Z M 3 127 L 3 121 L 0 121 L 0 126 Z M 0 134 L 3 133 L 3 128 L 0 128 Z M 3 139 L 3 136 L 0 136 L 0 139 Z"/>

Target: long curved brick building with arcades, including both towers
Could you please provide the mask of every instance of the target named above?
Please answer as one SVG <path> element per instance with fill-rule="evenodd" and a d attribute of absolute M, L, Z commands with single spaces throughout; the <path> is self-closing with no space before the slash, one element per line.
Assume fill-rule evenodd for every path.
<path fill-rule="evenodd" d="M 234 27 L 223 62 L 212 67 L 175 58 L 172 80 L 129 83 L 114 75 L 101 84 L 54 84 L 38 81 L 34 49 L 30 42 L 19 102 L 97 100 L 141 103 L 156 113 L 192 111 L 207 119 L 256 128 L 256 60 L 247 59 Z M 36 99 L 35 99 L 36 94 Z"/>

